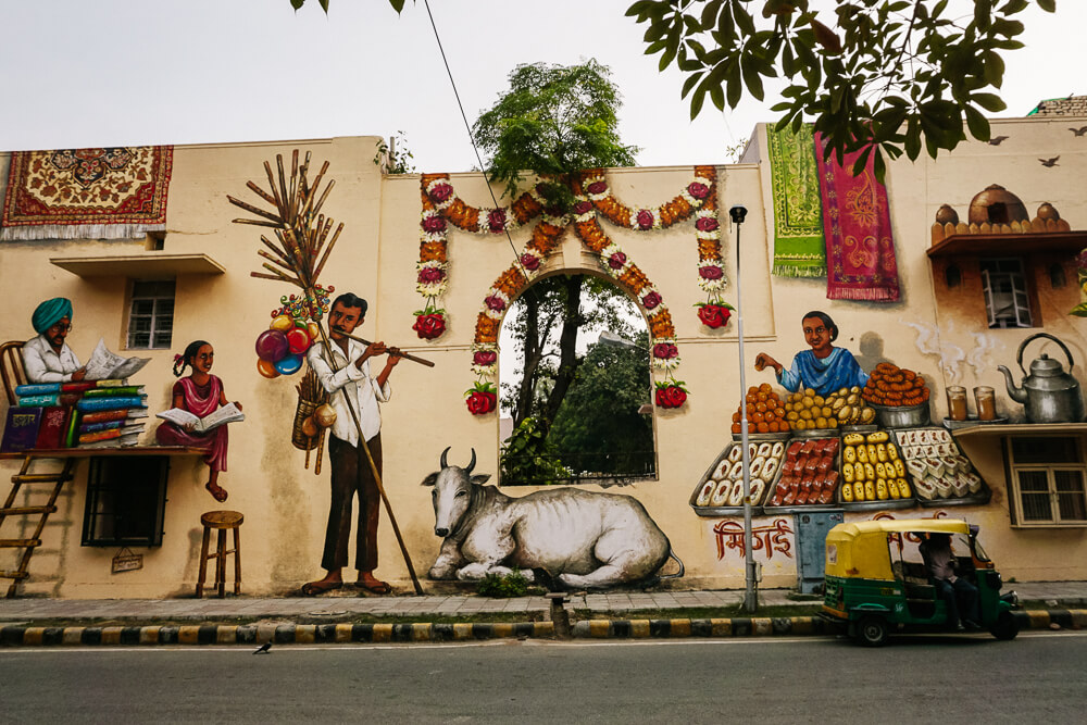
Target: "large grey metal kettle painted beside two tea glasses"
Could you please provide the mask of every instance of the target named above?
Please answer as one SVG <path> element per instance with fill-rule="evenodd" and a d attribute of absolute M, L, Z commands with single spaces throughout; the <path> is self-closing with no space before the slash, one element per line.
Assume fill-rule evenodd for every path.
<path fill-rule="evenodd" d="M 1061 346 L 1069 358 L 1069 372 L 1059 360 L 1052 360 L 1042 353 L 1030 362 L 1030 374 L 1023 367 L 1023 350 L 1028 342 L 1039 337 L 1048 337 Z M 1072 353 L 1067 346 L 1048 333 L 1038 333 L 1023 340 L 1016 357 L 1020 370 L 1023 371 L 1023 385 L 1015 387 L 1012 373 L 1003 365 L 997 370 L 1004 374 L 1008 395 L 1015 402 L 1023 403 L 1026 420 L 1030 423 L 1078 423 L 1084 418 L 1084 400 L 1079 390 L 1079 382 L 1072 375 Z"/>

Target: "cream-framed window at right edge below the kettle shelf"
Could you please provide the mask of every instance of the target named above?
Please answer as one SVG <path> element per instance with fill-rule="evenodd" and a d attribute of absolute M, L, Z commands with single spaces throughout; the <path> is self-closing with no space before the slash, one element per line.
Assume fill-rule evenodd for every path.
<path fill-rule="evenodd" d="M 1080 438 L 1009 438 L 1007 455 L 1013 525 L 1087 526 L 1087 464 Z"/>

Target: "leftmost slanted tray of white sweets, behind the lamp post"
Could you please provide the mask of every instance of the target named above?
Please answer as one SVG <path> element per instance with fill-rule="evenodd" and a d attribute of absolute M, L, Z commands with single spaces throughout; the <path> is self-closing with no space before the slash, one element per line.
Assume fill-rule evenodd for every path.
<path fill-rule="evenodd" d="M 785 443 L 764 440 L 748 443 L 751 466 L 752 513 L 760 514 L 766 493 L 782 475 Z M 699 516 L 735 516 L 744 513 L 744 443 L 729 443 L 698 482 L 690 505 Z"/>

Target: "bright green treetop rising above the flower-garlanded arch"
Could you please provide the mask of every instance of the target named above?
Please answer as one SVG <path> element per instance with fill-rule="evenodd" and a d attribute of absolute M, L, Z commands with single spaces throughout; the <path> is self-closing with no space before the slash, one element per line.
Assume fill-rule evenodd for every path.
<path fill-rule="evenodd" d="M 569 182 L 583 168 L 633 166 L 638 149 L 619 136 L 622 105 L 611 71 L 589 59 L 580 65 L 518 65 L 510 87 L 472 126 L 487 155 L 487 178 L 516 193 L 530 171 L 548 200 L 565 209 Z"/>

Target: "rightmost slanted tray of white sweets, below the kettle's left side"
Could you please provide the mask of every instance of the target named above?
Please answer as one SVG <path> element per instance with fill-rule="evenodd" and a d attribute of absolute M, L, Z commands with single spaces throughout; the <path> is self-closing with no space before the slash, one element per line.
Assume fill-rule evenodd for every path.
<path fill-rule="evenodd" d="M 896 430 L 917 503 L 927 508 L 988 503 L 992 491 L 944 428 Z"/>

